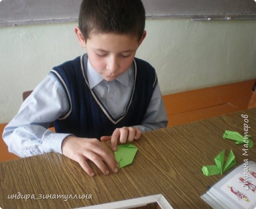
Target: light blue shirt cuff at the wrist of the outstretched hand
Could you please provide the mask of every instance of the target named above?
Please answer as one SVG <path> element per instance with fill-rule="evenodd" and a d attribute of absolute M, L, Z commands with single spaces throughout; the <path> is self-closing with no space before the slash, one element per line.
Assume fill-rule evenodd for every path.
<path fill-rule="evenodd" d="M 57 152 L 62 154 L 63 140 L 72 134 L 69 133 L 50 133 L 42 142 L 42 148 L 45 153 Z"/>

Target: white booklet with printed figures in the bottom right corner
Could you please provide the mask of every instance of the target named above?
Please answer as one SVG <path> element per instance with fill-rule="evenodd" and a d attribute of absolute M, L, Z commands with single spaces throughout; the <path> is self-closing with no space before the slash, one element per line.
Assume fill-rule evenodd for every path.
<path fill-rule="evenodd" d="M 241 164 L 201 198 L 213 209 L 256 209 L 256 162 Z"/>

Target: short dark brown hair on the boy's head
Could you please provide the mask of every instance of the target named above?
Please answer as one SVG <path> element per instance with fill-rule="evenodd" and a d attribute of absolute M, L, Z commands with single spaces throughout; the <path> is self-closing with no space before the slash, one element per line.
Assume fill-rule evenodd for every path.
<path fill-rule="evenodd" d="M 92 33 L 116 33 L 142 37 L 145 8 L 141 0 L 83 0 L 79 27 L 85 40 Z"/>

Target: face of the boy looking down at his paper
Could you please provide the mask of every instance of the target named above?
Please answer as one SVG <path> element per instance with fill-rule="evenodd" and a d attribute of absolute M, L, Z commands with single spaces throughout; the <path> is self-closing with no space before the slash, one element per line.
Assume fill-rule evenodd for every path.
<path fill-rule="evenodd" d="M 95 71 L 105 80 L 112 81 L 128 70 L 145 36 L 146 31 L 138 41 L 137 36 L 98 33 L 91 34 L 86 43 L 79 41 L 87 48 L 90 63 Z"/>

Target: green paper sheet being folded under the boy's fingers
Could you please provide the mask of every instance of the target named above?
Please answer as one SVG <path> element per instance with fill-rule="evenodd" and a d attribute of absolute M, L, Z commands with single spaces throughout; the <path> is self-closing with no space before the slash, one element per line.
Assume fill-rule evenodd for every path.
<path fill-rule="evenodd" d="M 119 164 L 119 168 L 123 168 L 132 163 L 138 148 L 132 144 L 123 144 L 117 146 L 115 158 Z"/>

